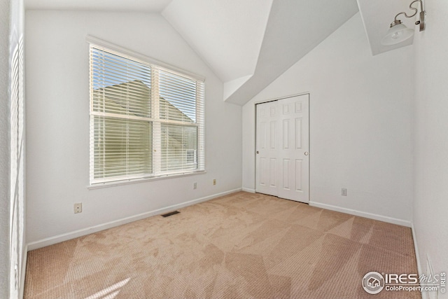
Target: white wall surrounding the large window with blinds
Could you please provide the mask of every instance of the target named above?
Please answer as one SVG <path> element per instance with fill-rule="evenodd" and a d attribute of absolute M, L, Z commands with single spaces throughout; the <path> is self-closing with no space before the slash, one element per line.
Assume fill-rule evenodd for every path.
<path fill-rule="evenodd" d="M 221 81 L 164 18 L 27 11 L 26 25 L 27 241 L 37 242 L 31 248 L 48 244 L 39 242 L 45 238 L 241 188 L 241 107 L 222 101 Z M 87 34 L 206 77 L 207 174 L 87 189 Z M 81 214 L 73 214 L 75 202 L 83 203 Z"/>

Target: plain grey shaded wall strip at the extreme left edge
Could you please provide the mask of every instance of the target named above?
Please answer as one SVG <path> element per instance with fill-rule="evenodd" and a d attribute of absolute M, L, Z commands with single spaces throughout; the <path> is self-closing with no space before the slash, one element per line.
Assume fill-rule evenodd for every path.
<path fill-rule="evenodd" d="M 9 297 L 9 22 L 10 1 L 0 0 L 0 298 Z"/>

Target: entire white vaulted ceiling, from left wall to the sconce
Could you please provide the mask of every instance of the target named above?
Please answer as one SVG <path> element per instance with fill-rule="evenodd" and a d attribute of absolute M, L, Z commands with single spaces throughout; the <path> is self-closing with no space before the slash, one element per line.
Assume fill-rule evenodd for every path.
<path fill-rule="evenodd" d="M 160 13 L 245 104 L 360 9 L 372 54 L 408 0 L 25 0 L 27 9 Z M 414 20 L 406 20 L 409 25 Z M 410 25 L 412 26 L 412 24 Z"/>

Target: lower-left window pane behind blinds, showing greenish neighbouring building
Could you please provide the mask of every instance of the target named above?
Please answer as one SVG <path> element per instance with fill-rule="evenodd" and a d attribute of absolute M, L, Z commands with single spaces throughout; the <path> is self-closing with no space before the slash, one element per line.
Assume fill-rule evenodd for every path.
<path fill-rule="evenodd" d="M 149 174 L 153 124 L 94 116 L 94 179 Z"/>

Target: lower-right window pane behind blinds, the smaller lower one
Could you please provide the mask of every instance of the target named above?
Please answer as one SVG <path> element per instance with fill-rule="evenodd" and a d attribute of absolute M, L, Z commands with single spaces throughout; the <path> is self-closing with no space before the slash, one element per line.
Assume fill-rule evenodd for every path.
<path fill-rule="evenodd" d="M 197 169 L 197 127 L 162 124 L 162 172 Z"/>

